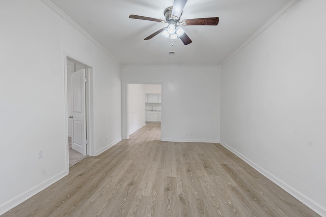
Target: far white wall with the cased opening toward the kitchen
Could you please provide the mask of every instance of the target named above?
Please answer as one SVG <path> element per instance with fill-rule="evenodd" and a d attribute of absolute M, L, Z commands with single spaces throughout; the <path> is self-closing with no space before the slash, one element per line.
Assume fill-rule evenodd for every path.
<path fill-rule="evenodd" d="M 220 76 L 217 66 L 125 66 L 122 70 L 123 138 L 128 132 L 126 84 L 156 83 L 162 84 L 163 141 L 219 142 Z"/>

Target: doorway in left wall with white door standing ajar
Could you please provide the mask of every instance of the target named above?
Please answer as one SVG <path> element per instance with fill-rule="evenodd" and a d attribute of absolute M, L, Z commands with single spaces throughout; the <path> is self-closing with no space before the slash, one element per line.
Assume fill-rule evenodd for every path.
<path fill-rule="evenodd" d="M 92 154 L 92 67 L 65 54 L 67 167 Z"/>

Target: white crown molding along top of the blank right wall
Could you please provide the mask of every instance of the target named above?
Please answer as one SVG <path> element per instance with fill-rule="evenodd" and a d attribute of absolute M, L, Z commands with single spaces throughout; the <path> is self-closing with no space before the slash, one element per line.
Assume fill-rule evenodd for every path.
<path fill-rule="evenodd" d="M 268 29 L 271 25 L 273 25 L 278 19 L 280 19 L 286 12 L 288 12 L 291 8 L 293 8 L 300 0 L 291 0 L 289 1 L 281 10 L 279 10 L 273 17 L 271 17 L 263 26 L 261 26 L 254 35 L 252 35 L 246 42 L 244 42 L 240 47 L 238 47 L 230 56 L 228 56 L 221 66 L 223 66 L 230 58 L 232 58 L 235 54 L 240 52 L 243 48 L 249 45 L 252 41 L 254 41 L 258 36 L 260 36 L 266 29 Z"/>

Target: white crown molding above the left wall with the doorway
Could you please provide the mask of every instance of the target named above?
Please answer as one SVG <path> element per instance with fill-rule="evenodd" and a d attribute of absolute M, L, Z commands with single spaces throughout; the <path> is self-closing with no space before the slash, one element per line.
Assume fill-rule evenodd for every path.
<path fill-rule="evenodd" d="M 53 12 L 55 12 L 57 15 L 59 15 L 63 20 L 69 23 L 72 27 L 77 29 L 79 33 L 82 33 L 84 36 L 86 36 L 89 40 L 91 40 L 94 44 L 96 44 L 99 48 L 101 48 L 107 55 L 109 55 L 113 60 L 115 60 L 120 66 L 122 66 L 120 61 L 112 53 L 110 53 L 105 47 L 103 47 L 98 41 L 96 41 L 90 34 L 86 32 L 84 28 L 80 27 L 75 21 L 73 21 L 67 14 L 65 14 L 55 4 L 53 4 L 49 0 L 39 0 L 39 1 L 43 3 L 45 6 L 47 6 L 49 9 L 51 9 Z"/>

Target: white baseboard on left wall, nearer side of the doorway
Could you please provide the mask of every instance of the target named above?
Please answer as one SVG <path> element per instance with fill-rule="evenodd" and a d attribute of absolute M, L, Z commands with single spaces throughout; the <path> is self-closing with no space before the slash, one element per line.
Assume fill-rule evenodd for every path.
<path fill-rule="evenodd" d="M 68 171 L 62 171 L 61 173 L 45 180 L 44 182 L 36 185 L 36 187 L 26 191 L 25 193 L 22 193 L 21 195 L 15 197 L 14 199 L 1 204 L 0 205 L 0 215 L 4 214 L 5 212 L 9 211 L 10 209 L 14 208 L 15 206 L 19 205 L 20 203 L 24 202 L 25 200 L 33 197 L 37 193 L 41 192 L 42 190 L 49 187 L 51 184 L 55 183 L 56 181 L 62 179 L 68 175 Z"/>

